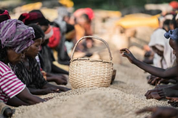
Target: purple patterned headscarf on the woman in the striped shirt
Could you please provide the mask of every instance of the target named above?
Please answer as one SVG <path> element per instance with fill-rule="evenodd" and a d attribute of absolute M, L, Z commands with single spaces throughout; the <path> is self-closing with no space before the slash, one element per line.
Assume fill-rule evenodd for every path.
<path fill-rule="evenodd" d="M 33 44 L 34 30 L 16 19 L 9 19 L 0 23 L 0 41 L 2 48 L 10 47 L 16 53 Z"/>

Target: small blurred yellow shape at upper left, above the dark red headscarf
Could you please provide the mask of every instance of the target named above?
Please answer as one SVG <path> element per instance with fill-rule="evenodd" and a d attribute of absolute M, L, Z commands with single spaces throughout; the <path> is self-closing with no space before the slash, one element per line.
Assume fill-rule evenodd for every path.
<path fill-rule="evenodd" d="M 34 9 L 40 9 L 41 7 L 42 7 L 42 3 L 36 2 L 36 3 L 30 3 L 30 4 L 23 5 L 21 7 L 21 10 L 22 11 L 31 11 L 31 10 L 34 10 Z"/>

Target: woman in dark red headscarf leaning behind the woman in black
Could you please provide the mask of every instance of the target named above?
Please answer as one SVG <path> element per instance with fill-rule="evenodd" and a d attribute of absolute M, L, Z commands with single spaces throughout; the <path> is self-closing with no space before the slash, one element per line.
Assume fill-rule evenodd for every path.
<path fill-rule="evenodd" d="M 41 51 L 38 54 L 39 58 L 37 58 L 37 61 L 40 62 L 42 70 L 45 71 L 44 73 L 45 73 L 45 75 L 47 75 L 47 80 L 49 80 L 51 78 L 51 76 L 52 76 L 51 73 L 68 74 L 68 72 L 64 71 L 63 69 L 61 69 L 53 64 L 53 61 L 55 61 L 55 59 L 54 59 L 52 50 L 47 45 L 49 38 L 53 35 L 53 30 L 49 24 L 49 21 L 43 16 L 41 11 L 33 10 L 29 13 L 23 13 L 20 15 L 19 20 L 23 21 L 24 24 L 26 24 L 26 25 L 29 25 L 31 23 L 35 23 L 35 24 L 39 25 L 45 34 L 44 41 L 41 45 Z M 57 84 L 60 84 L 60 83 L 58 83 L 58 80 L 60 78 L 54 77 L 53 79 L 55 79 L 55 82 Z"/>

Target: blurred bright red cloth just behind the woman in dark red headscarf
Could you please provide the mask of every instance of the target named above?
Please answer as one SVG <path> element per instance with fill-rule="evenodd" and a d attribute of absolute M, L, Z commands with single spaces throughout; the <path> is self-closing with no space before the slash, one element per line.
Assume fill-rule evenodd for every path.
<path fill-rule="evenodd" d="M 59 45 L 61 39 L 61 33 L 58 27 L 53 27 L 53 35 L 49 38 L 48 46 L 55 48 Z"/>

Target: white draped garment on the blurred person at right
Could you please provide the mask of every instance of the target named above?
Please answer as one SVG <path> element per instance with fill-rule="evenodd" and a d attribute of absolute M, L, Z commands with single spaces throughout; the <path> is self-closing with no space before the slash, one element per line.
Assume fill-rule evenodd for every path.
<path fill-rule="evenodd" d="M 164 37 L 166 31 L 157 29 L 151 35 L 149 46 L 154 51 L 153 65 L 159 68 L 167 69 L 172 67 L 176 59 L 173 49 L 169 45 L 169 40 Z"/>

